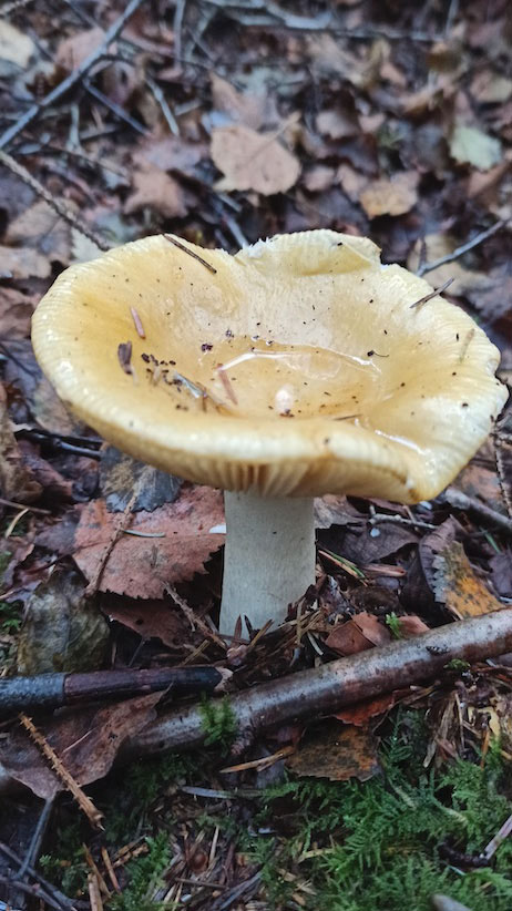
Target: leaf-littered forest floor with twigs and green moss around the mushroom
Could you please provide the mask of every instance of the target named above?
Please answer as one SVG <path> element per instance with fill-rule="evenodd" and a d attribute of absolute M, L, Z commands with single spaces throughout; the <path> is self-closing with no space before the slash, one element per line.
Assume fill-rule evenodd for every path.
<path fill-rule="evenodd" d="M 506 383 L 511 37 L 506 0 L 3 3 L 1 677 L 207 666 L 236 693 L 512 604 L 505 412 L 432 502 L 318 501 L 315 596 L 229 645 L 221 494 L 104 443 L 30 342 L 54 278 L 102 249 L 331 228 L 451 280 Z M 0 909 L 510 911 L 511 667 L 451 662 L 252 743 L 203 697 L 202 749 L 127 765 L 168 694 L 3 706 Z"/>

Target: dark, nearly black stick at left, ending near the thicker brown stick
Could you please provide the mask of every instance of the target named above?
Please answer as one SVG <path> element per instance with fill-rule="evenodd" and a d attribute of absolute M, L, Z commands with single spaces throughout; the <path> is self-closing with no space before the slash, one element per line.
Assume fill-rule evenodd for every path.
<path fill-rule="evenodd" d="M 212 666 L 154 667 L 147 671 L 93 671 L 89 674 L 39 674 L 0 680 L 0 718 L 18 712 L 59 708 L 92 699 L 126 699 L 170 689 L 173 695 L 222 689 L 229 671 Z"/>

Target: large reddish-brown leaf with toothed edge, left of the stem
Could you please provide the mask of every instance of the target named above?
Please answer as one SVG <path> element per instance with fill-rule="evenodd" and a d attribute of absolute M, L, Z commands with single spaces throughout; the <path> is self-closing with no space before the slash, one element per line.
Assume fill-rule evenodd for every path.
<path fill-rule="evenodd" d="M 117 522 L 119 513 L 110 513 L 103 500 L 93 500 L 83 510 L 75 532 L 74 560 L 88 580 L 99 569 Z M 209 554 L 224 543 L 224 535 L 211 533 L 209 529 L 222 523 L 222 493 L 203 487 L 184 488 L 174 503 L 154 512 L 134 513 L 130 531 L 163 533 L 165 538 L 122 534 L 104 567 L 100 591 L 162 598 L 166 585 L 203 572 Z"/>

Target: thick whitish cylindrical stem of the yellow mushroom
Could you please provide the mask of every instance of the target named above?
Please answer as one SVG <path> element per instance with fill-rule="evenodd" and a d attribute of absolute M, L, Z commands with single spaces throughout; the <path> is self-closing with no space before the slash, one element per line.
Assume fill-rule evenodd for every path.
<path fill-rule="evenodd" d="M 313 504 L 313 497 L 226 491 L 221 633 L 233 634 L 244 615 L 255 628 L 277 626 L 315 582 Z"/>

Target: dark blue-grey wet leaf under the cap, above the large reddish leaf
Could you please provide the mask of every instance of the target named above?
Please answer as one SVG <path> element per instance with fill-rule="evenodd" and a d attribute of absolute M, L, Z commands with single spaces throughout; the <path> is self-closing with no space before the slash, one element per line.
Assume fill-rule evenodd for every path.
<path fill-rule="evenodd" d="M 141 475 L 144 480 L 140 481 Z M 137 462 L 113 446 L 104 446 L 101 453 L 100 489 L 109 512 L 126 509 L 135 485 L 140 490 L 132 505 L 133 512 L 153 512 L 164 503 L 173 503 L 180 494 L 182 480 Z"/>

